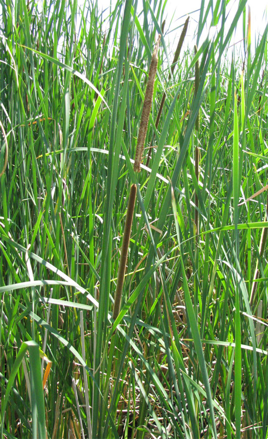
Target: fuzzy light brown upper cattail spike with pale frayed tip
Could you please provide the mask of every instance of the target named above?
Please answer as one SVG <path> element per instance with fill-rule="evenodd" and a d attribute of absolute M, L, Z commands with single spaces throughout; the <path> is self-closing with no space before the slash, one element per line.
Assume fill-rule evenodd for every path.
<path fill-rule="evenodd" d="M 158 40 L 155 46 L 155 49 L 152 54 L 152 60 L 149 68 L 149 74 L 148 74 L 148 82 L 146 87 L 146 92 L 144 96 L 144 104 L 143 104 L 143 111 L 142 111 L 142 117 L 141 117 L 141 124 L 139 129 L 139 135 L 137 140 L 137 147 L 136 147 L 136 156 L 135 156 L 135 162 L 134 162 L 134 171 L 140 172 L 141 170 L 141 161 L 142 161 L 142 155 L 144 150 L 144 141 L 145 136 L 147 133 L 147 127 L 148 127 L 148 121 L 152 106 L 152 100 L 153 100 L 153 91 L 154 91 L 154 80 L 157 70 L 157 63 L 158 63 L 158 49 L 160 44 L 160 38 L 161 36 L 158 36 Z"/>

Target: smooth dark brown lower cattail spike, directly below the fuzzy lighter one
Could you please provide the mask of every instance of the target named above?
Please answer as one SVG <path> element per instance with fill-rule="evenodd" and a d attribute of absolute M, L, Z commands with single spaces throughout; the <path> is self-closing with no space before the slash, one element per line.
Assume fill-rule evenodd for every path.
<path fill-rule="evenodd" d="M 122 291 L 123 291 L 123 284 L 124 284 L 124 273 L 125 273 L 125 267 L 126 267 L 126 259 L 127 259 L 127 253 L 128 253 L 128 245 L 129 245 L 131 227 L 132 227 L 132 219 L 133 219 L 133 212 L 134 212 L 134 207 L 135 207 L 136 193 L 137 193 L 137 186 L 136 186 L 136 184 L 132 184 L 132 186 L 130 188 L 130 194 L 129 194 L 128 204 L 127 204 L 126 218 L 125 218 L 125 224 L 124 224 L 124 235 L 123 235 L 123 241 L 122 241 L 122 249 L 121 249 L 121 256 L 120 256 L 120 261 L 119 261 L 119 269 L 118 269 L 118 276 L 117 276 L 117 283 L 116 283 L 116 292 L 115 292 L 115 298 L 114 298 L 113 319 L 116 319 L 119 312 L 120 312 L 121 298 L 122 298 Z"/>

